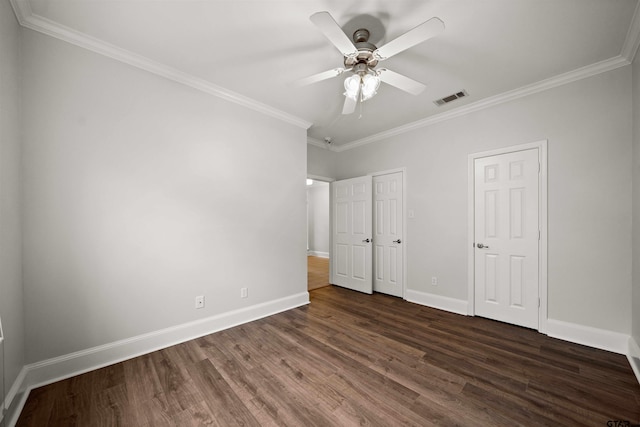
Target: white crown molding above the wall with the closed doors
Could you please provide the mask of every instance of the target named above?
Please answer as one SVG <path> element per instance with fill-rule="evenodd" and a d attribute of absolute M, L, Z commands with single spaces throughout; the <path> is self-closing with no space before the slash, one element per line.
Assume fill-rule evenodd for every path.
<path fill-rule="evenodd" d="M 467 104 L 462 107 L 458 107 L 454 110 L 436 114 L 434 116 L 429 116 L 425 119 L 417 120 L 415 122 L 411 122 L 406 125 L 398 126 L 396 128 L 389 129 L 384 132 L 380 132 L 374 135 L 367 136 L 362 139 L 348 142 L 346 144 L 340 145 L 339 147 L 335 147 L 334 150 L 337 152 L 341 152 L 341 151 L 350 150 L 356 147 L 360 147 L 366 144 L 371 144 L 372 142 L 381 141 L 383 139 L 391 138 L 393 136 L 410 132 L 412 130 L 431 126 L 436 123 L 440 123 L 446 120 L 451 120 L 456 117 L 464 116 L 466 114 L 470 114 L 476 111 L 484 110 L 485 108 L 493 107 L 499 104 L 504 104 L 505 102 L 513 101 L 515 99 L 533 95 L 535 93 L 552 89 L 554 87 L 562 86 L 568 83 L 585 79 L 587 77 L 592 77 L 597 74 L 615 70 L 616 68 L 624 67 L 625 65 L 629 65 L 629 64 L 631 64 L 631 62 L 627 58 L 620 55 L 615 58 L 597 62 L 592 65 L 587 65 L 586 67 L 578 68 L 577 70 L 569 71 L 567 73 L 560 74 L 558 76 L 555 76 L 546 80 L 542 80 L 537 83 L 523 86 L 521 88 L 514 89 L 508 92 L 504 92 L 496 96 L 485 98 L 480 101 Z"/>

